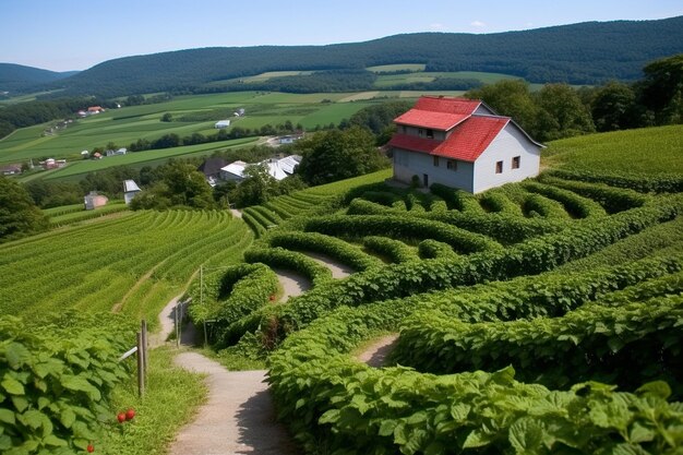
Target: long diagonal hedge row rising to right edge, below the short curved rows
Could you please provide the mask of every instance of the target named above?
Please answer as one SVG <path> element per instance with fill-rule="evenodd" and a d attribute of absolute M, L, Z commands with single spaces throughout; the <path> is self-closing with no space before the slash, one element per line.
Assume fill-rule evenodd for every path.
<path fill-rule="evenodd" d="M 279 310 L 278 324 L 297 330 L 343 304 L 355 307 L 417 292 L 551 271 L 649 226 L 669 220 L 681 208 L 679 199 L 662 200 L 658 204 L 610 217 L 576 221 L 562 232 L 531 239 L 507 250 L 474 253 L 457 260 L 392 264 L 357 273 L 340 282 L 316 286 L 305 295 L 291 299 Z"/>

